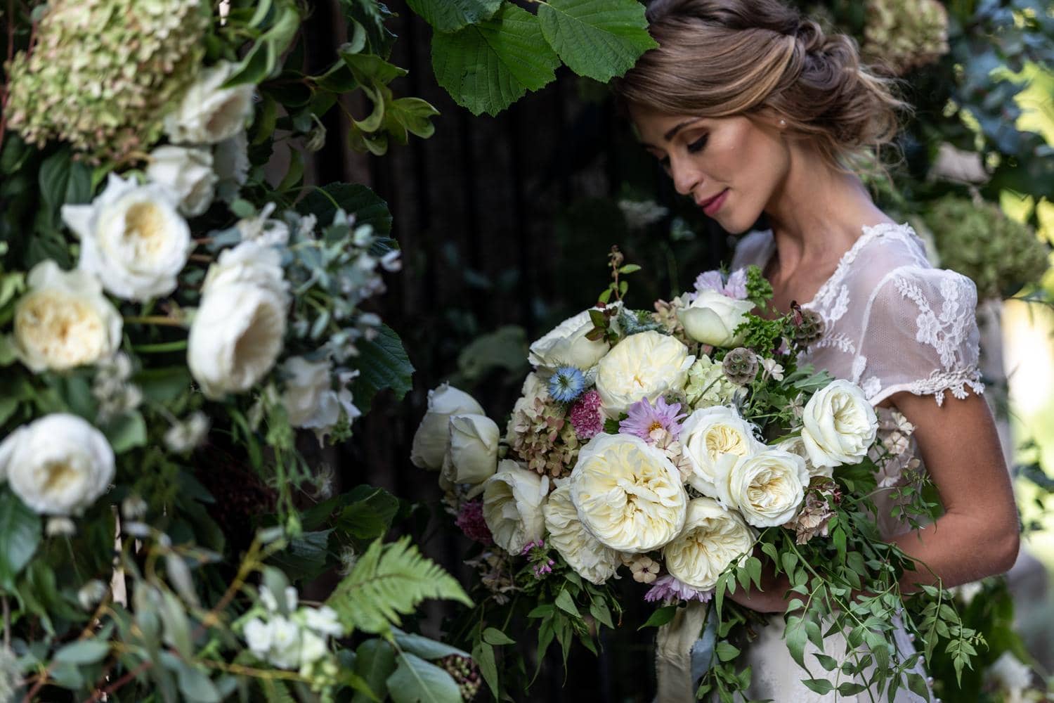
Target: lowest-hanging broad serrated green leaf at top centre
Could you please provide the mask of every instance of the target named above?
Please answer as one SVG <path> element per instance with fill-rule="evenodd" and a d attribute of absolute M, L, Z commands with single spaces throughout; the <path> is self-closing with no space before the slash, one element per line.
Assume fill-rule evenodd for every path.
<path fill-rule="evenodd" d="M 496 115 L 555 80 L 559 65 L 538 18 L 511 3 L 489 20 L 432 37 L 435 79 L 473 115 Z"/>

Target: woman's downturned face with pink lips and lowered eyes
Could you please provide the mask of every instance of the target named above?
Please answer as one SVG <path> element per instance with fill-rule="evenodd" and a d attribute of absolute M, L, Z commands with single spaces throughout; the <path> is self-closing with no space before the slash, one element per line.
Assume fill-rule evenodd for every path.
<path fill-rule="evenodd" d="M 789 165 L 780 130 L 763 118 L 667 115 L 630 108 L 645 149 L 682 195 L 726 231 L 747 231 L 778 196 Z"/>

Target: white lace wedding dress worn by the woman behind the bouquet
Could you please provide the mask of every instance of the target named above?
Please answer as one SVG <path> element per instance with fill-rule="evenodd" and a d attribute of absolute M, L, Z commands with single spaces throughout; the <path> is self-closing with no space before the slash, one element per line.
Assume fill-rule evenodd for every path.
<path fill-rule="evenodd" d="M 752 232 L 739 242 L 733 269 L 752 263 L 764 268 L 775 250 L 770 232 Z M 968 388 L 975 393 L 984 390 L 978 368 L 974 284 L 958 273 L 930 266 L 922 241 L 906 224 L 863 228 L 863 234 L 845 252 L 816 297 L 799 302 L 818 313 L 824 324 L 823 336 L 800 360 L 859 384 L 873 405 L 898 391 L 933 395 L 934 402 L 941 405 L 945 393 L 965 397 Z M 913 461 L 915 445 L 899 432 L 892 411 L 878 408 L 878 412 L 880 436 L 899 454 L 879 476 L 880 487 L 890 488 Z M 884 538 L 910 529 L 889 515 L 891 500 L 883 501 L 880 494 L 876 503 L 881 510 L 879 526 Z M 790 658 L 782 636 L 783 620 L 773 617 L 758 640 L 743 652 L 753 671 L 750 699 L 777 703 L 836 700 L 833 692 L 821 696 L 801 683 L 807 675 Z M 897 642 L 901 656 L 914 651 L 902 626 Z M 824 650 L 841 661 L 844 638 L 837 633 L 828 637 Z M 805 660 L 817 676 L 822 676 L 823 669 L 813 657 L 816 651 L 808 644 Z M 917 670 L 924 676 L 921 665 Z M 837 700 L 863 703 L 889 699 L 884 694 L 881 699 L 873 699 L 864 691 L 855 697 L 839 696 Z M 895 700 L 914 703 L 923 699 L 901 688 Z"/>

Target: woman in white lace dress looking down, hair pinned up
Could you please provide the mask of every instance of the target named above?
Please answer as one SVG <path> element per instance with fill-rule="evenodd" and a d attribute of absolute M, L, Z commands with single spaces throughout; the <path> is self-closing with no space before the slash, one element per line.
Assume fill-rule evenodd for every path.
<path fill-rule="evenodd" d="M 767 216 L 770 231 L 742 238 L 733 267 L 761 266 L 781 313 L 797 301 L 820 316 L 824 334 L 803 362 L 859 384 L 887 426 L 915 427 L 909 456 L 922 461 L 945 511 L 918 530 L 880 515 L 883 538 L 925 565 L 904 574 L 904 592 L 1006 571 L 1018 550 L 1017 511 L 981 397 L 975 287 L 932 268 L 912 229 L 880 211 L 857 175 L 893 139 L 904 105 L 860 65 L 851 39 L 825 36 L 778 0 L 657 0 L 647 13 L 659 47 L 616 83 L 641 143 L 726 231 Z M 883 479 L 890 486 L 897 476 Z M 766 581 L 729 598 L 784 611 L 788 584 Z M 769 623 L 743 653 L 749 698 L 834 700 L 801 683 L 807 675 L 782 642 L 782 618 Z M 661 633 L 664 702 L 694 699 L 687 647 L 698 625 Z M 911 638 L 900 633 L 906 655 Z M 845 647 L 836 639 L 828 653 Z M 896 700 L 921 699 L 901 688 Z"/>

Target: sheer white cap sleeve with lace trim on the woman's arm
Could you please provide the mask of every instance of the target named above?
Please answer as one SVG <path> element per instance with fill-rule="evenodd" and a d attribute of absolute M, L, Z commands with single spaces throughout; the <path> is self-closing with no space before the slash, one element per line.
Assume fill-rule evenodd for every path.
<path fill-rule="evenodd" d="M 904 266 L 886 274 L 868 300 L 853 380 L 872 404 L 899 391 L 957 398 L 982 393 L 977 289 L 965 276 Z"/>

